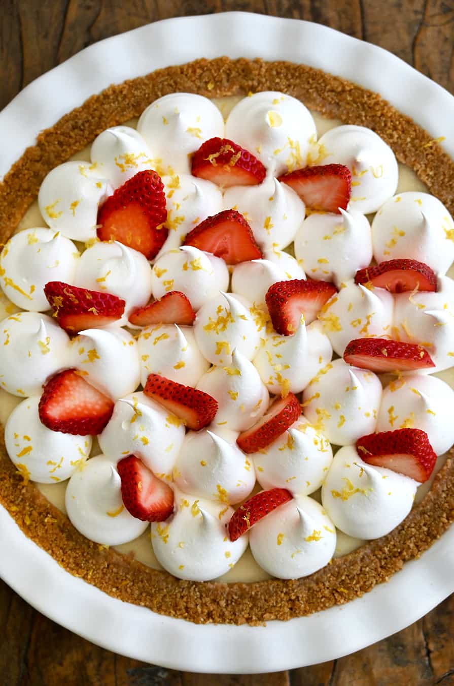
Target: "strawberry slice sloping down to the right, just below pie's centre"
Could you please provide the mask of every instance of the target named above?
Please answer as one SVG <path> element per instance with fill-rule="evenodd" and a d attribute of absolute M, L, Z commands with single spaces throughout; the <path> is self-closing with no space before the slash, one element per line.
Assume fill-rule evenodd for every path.
<path fill-rule="evenodd" d="M 176 414 L 194 431 L 210 424 L 218 411 L 218 403 L 211 395 L 159 374 L 149 375 L 144 393 Z"/>

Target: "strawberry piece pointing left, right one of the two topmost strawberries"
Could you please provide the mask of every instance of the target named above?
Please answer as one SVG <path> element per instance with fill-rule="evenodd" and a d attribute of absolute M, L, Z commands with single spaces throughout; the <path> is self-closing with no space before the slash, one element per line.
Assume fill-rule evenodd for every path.
<path fill-rule="evenodd" d="M 290 171 L 279 178 L 311 210 L 338 213 L 346 209 L 351 193 L 351 171 L 345 165 L 320 165 Z"/>

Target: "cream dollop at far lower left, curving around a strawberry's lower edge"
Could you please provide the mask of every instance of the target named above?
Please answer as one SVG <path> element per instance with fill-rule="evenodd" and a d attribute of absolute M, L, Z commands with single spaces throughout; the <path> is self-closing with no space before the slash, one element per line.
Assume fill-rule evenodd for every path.
<path fill-rule="evenodd" d="M 56 484 L 83 466 L 92 438 L 51 431 L 40 421 L 39 403 L 34 395 L 14 407 L 5 425 L 6 451 L 25 481 Z"/>

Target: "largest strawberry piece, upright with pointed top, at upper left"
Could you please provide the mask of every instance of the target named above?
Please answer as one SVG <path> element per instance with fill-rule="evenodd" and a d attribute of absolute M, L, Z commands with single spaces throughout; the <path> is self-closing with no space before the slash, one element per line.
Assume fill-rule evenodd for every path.
<path fill-rule="evenodd" d="M 153 259 L 168 236 L 166 196 L 161 177 L 152 169 L 139 171 L 101 206 L 98 238 L 119 241 Z"/>

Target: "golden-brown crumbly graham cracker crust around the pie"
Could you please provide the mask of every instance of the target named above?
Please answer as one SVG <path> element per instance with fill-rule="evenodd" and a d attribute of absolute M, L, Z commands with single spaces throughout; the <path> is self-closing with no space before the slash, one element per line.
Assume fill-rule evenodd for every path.
<path fill-rule="evenodd" d="M 224 97 L 283 91 L 325 117 L 367 126 L 412 167 L 430 193 L 454 211 L 454 161 L 437 141 L 380 95 L 303 64 L 262 60 L 196 60 L 110 86 L 42 131 L 0 184 L 0 241 L 35 200 L 46 174 L 109 126 L 138 117 L 157 97 L 186 91 Z M 2 432 L 3 434 L 3 432 Z M 454 521 L 454 462 L 449 458 L 423 502 L 388 536 L 370 541 L 312 576 L 251 584 L 190 582 L 155 571 L 79 534 L 31 483 L 25 483 L 0 437 L 0 504 L 37 545 L 74 576 L 114 598 L 197 624 L 263 624 L 344 604 L 386 582 L 420 556 Z"/>

